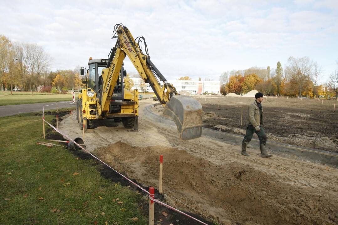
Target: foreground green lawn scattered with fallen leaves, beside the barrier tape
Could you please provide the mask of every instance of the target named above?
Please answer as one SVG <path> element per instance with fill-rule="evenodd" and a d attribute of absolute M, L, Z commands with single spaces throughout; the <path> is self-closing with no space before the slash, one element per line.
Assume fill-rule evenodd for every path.
<path fill-rule="evenodd" d="M 40 115 L 0 117 L 0 132 L 2 224 L 147 224 L 146 200 L 101 177 L 93 160 L 36 144 L 45 141 Z"/>

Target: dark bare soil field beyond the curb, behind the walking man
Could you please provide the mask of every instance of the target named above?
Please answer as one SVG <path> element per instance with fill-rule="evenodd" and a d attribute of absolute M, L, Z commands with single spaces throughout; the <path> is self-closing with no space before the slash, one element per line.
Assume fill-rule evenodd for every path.
<path fill-rule="evenodd" d="M 203 106 L 204 127 L 245 135 L 247 106 L 255 101 L 254 97 L 203 96 L 196 99 Z M 323 100 L 322 104 L 318 99 L 267 97 L 262 105 L 268 140 L 338 152 L 337 101 Z"/>

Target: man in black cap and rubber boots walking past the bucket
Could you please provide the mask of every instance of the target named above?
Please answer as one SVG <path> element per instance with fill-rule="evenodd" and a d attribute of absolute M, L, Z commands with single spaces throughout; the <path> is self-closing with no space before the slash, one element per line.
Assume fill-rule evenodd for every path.
<path fill-rule="evenodd" d="M 254 133 L 257 134 L 259 138 L 259 147 L 261 149 L 261 156 L 263 158 L 269 158 L 272 155 L 267 154 L 265 150 L 266 145 L 266 135 L 263 128 L 263 110 L 262 110 L 262 102 L 263 102 L 263 94 L 258 92 L 255 94 L 255 102 L 248 106 L 248 115 L 246 119 L 246 133 L 244 139 L 242 141 L 242 151 L 241 154 L 243 156 L 249 156 L 246 153 L 246 145 L 251 141 Z"/>

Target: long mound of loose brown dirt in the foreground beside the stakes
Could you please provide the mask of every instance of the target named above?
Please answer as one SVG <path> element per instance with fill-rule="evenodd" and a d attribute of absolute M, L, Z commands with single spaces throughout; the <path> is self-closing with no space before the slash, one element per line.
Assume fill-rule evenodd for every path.
<path fill-rule="evenodd" d="M 337 199 L 313 189 L 282 183 L 249 165 L 238 162 L 217 165 L 174 147 L 140 148 L 123 142 L 95 152 L 117 170 L 156 188 L 162 154 L 164 192 L 178 196 L 222 224 L 338 222 Z"/>

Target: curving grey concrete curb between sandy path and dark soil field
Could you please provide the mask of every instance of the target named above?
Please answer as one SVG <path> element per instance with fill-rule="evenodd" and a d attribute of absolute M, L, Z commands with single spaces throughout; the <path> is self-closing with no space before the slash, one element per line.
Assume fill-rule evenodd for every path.
<path fill-rule="evenodd" d="M 159 116 L 150 111 L 150 108 L 153 107 L 155 104 L 145 107 L 144 113 L 148 117 L 156 121 L 175 126 L 175 123 L 172 120 Z M 231 134 L 231 133 L 222 132 L 222 131 L 216 131 L 216 130 L 212 130 L 208 128 L 202 128 L 202 135 L 208 136 L 211 138 L 216 138 L 227 144 L 233 144 L 233 145 L 238 145 L 238 146 L 242 145 L 242 140 L 244 137 L 242 135 Z M 252 145 L 255 149 L 259 151 L 259 140 L 257 138 L 253 138 L 250 142 L 250 145 Z M 300 158 L 301 160 L 310 160 L 312 162 L 317 162 L 321 164 L 338 167 L 338 153 L 335 153 L 335 152 L 323 151 L 323 150 L 312 149 L 312 148 L 305 148 L 305 147 L 282 144 L 282 143 L 271 142 L 271 141 L 268 141 L 266 143 L 266 147 L 271 152 L 278 154 L 279 156 L 282 156 L 282 157 L 296 156 Z M 247 151 L 248 153 L 250 153 L 251 148 L 248 148 Z"/>

